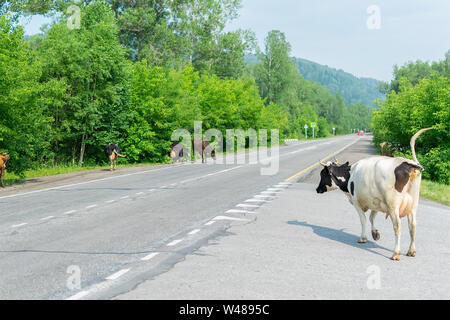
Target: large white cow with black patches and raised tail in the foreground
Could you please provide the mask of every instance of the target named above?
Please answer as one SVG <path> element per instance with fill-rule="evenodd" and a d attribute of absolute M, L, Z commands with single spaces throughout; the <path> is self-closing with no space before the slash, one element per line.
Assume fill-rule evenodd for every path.
<path fill-rule="evenodd" d="M 419 130 L 410 141 L 413 160 L 375 156 L 359 160 L 353 165 L 340 165 L 337 161 L 321 163 L 324 167 L 320 173 L 321 180 L 317 193 L 341 189 L 355 207 L 361 220 L 361 237 L 359 243 L 365 243 L 366 215 L 370 210 L 372 237 L 380 239 L 380 232 L 375 228 L 377 212 L 386 213 L 386 219 L 391 218 L 395 233 L 395 248 L 392 260 L 400 260 L 400 218 L 408 217 L 409 234 L 411 238 L 407 256 L 416 255 L 416 212 L 419 203 L 421 173 L 423 167 L 419 164 L 415 152 L 415 141 L 427 130 Z"/>

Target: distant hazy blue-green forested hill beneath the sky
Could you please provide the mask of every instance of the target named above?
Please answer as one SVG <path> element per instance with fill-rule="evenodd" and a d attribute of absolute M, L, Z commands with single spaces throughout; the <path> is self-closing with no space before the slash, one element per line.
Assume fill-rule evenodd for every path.
<path fill-rule="evenodd" d="M 258 62 L 255 55 L 247 55 L 248 64 Z M 337 70 L 302 58 L 295 58 L 297 68 L 308 81 L 320 83 L 332 93 L 338 93 L 344 98 L 345 104 L 362 103 L 373 107 L 375 99 L 384 100 L 385 95 L 377 89 L 378 80 L 372 78 L 358 78 L 351 73 Z"/>

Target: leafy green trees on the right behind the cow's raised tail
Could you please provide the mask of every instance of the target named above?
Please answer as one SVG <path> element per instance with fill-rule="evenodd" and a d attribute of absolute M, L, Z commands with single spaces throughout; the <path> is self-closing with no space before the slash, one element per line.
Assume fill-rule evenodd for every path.
<path fill-rule="evenodd" d="M 416 142 L 424 177 L 450 184 L 450 51 L 432 63 L 394 66 L 394 79 L 382 83 L 388 93 L 374 111 L 374 141 L 388 142 L 394 155 L 411 157 L 409 140 L 421 128 L 434 127 Z"/>

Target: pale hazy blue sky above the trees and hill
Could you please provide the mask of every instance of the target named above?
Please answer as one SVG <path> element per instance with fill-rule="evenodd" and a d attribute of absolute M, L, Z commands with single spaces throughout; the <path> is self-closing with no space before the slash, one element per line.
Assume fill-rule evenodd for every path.
<path fill-rule="evenodd" d="M 292 55 L 356 76 L 390 80 L 392 66 L 409 60 L 441 60 L 450 49 L 449 0 L 243 0 L 227 30 L 251 29 L 259 46 L 280 30 Z M 370 6 L 379 8 L 379 29 Z M 48 20 L 35 17 L 27 34 Z M 375 24 L 374 24 L 375 23 Z"/>

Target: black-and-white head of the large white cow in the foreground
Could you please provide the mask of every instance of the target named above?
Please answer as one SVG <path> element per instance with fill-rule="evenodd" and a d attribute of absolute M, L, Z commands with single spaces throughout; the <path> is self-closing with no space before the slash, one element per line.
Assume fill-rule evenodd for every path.
<path fill-rule="evenodd" d="M 339 165 L 338 161 L 328 161 L 320 163 L 323 166 L 320 172 L 319 186 L 316 188 L 317 193 L 324 193 L 336 189 L 348 192 L 348 180 L 350 178 L 349 162 Z"/>

